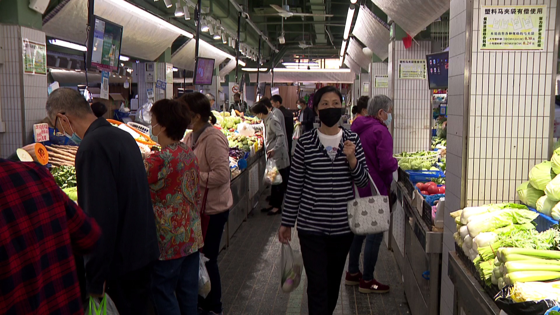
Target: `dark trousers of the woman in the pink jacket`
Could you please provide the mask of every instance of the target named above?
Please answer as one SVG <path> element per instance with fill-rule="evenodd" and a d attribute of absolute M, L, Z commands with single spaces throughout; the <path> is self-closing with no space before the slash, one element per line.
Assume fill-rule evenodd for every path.
<path fill-rule="evenodd" d="M 218 270 L 218 253 L 220 253 L 223 226 L 226 225 L 227 217 L 230 216 L 230 210 L 209 216 L 210 221 L 206 230 L 202 253 L 208 258 L 206 270 L 208 270 L 208 276 L 210 277 L 211 290 L 206 298 L 198 296 L 198 307 L 206 312 L 220 314 L 222 312 L 222 281 L 220 270 Z"/>

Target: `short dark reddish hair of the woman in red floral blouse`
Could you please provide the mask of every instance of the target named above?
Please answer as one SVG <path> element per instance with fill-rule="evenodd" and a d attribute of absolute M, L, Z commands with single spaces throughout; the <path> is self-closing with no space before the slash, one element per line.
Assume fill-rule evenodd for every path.
<path fill-rule="evenodd" d="M 169 99 L 158 100 L 153 104 L 150 113 L 156 117 L 156 121 L 161 127 L 165 127 L 165 134 L 171 140 L 179 141 L 185 136 L 186 127 L 190 124 L 190 112 L 184 102 Z"/>

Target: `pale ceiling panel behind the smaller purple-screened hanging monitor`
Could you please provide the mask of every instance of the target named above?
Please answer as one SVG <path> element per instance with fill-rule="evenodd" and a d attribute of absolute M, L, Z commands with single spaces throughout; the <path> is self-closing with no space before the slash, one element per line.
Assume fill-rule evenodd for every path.
<path fill-rule="evenodd" d="M 171 63 L 174 67 L 183 68 L 183 69 L 192 69 L 194 70 L 194 49 L 196 45 L 196 40 L 190 39 L 186 43 L 184 43 L 179 49 L 175 50 L 175 52 L 171 55 Z M 213 47 L 212 45 L 200 41 L 198 55 L 199 57 L 204 58 L 212 58 L 216 59 L 214 61 L 214 66 L 218 66 L 218 64 L 222 63 L 227 59 L 225 53 L 218 53 L 221 50 L 217 49 L 209 49 Z M 234 59 L 235 64 L 235 59 Z"/>

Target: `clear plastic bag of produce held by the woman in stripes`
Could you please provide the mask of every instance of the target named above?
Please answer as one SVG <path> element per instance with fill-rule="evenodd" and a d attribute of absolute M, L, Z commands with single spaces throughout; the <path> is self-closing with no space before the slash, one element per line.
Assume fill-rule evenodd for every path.
<path fill-rule="evenodd" d="M 290 293 L 300 285 L 304 259 L 300 252 L 293 251 L 290 244 L 282 244 L 280 251 L 280 285 L 283 292 Z"/>

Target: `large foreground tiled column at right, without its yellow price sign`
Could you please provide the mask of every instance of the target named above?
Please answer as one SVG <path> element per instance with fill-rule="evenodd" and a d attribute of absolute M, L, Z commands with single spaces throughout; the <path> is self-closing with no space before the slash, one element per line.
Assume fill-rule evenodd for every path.
<path fill-rule="evenodd" d="M 480 6 L 503 4 L 451 0 L 442 315 L 452 314 L 453 306 L 447 262 L 448 253 L 455 250 L 456 226 L 449 213 L 465 206 L 517 201 L 515 187 L 550 153 L 558 54 L 554 38 L 560 29 L 557 1 L 507 2 L 547 6 L 542 51 L 480 50 Z"/>

